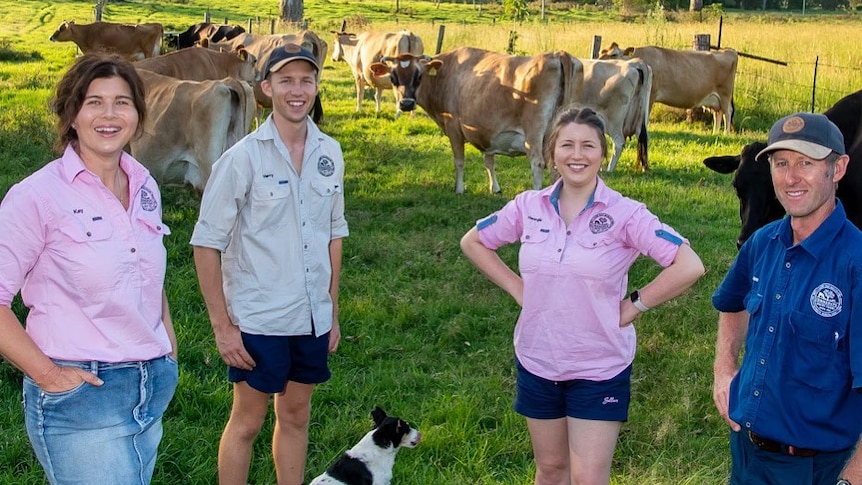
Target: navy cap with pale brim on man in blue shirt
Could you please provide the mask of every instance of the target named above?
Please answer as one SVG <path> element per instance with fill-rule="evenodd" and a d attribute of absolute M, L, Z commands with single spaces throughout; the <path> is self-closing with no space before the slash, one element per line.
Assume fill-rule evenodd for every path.
<path fill-rule="evenodd" d="M 769 130 L 768 146 L 757 157 L 776 150 L 792 150 L 813 160 L 823 160 L 830 153 L 844 155 L 844 135 L 824 115 L 796 113 L 776 121 Z"/>

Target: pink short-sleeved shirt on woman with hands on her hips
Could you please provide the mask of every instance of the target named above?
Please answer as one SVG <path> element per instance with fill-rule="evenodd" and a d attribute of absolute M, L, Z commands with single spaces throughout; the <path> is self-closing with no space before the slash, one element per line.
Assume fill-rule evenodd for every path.
<path fill-rule="evenodd" d="M 601 179 L 567 228 L 557 211 L 561 183 L 519 194 L 478 222 L 479 237 L 493 250 L 521 243 L 524 302 L 515 326 L 521 364 L 553 381 L 607 380 L 635 355 L 634 326 L 619 326 L 629 268 L 640 254 L 667 267 L 687 241 Z"/>

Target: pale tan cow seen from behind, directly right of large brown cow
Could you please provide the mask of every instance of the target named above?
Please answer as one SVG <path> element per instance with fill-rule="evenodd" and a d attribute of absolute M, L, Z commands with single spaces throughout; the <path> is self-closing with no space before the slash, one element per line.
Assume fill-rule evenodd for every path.
<path fill-rule="evenodd" d="M 634 59 L 581 59 L 584 65 L 584 88 L 581 104 L 590 106 L 605 120 L 605 132 L 614 142 L 614 154 L 608 163 L 613 172 L 622 155 L 626 138 L 637 137 L 638 164 L 649 169 L 647 158 L 647 120 L 652 70 Z"/>

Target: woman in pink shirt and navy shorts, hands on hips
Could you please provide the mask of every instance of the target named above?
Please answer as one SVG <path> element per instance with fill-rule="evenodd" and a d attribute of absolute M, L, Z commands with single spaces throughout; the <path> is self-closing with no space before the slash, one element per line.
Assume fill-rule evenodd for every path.
<path fill-rule="evenodd" d="M 704 273 L 685 239 L 599 178 L 604 132 L 589 108 L 559 113 L 545 159 L 560 179 L 519 194 L 461 240 L 473 264 L 521 305 L 514 409 L 527 418 L 536 485 L 609 483 L 628 419 L 631 324 Z M 496 253 L 516 242 L 519 273 Z M 664 269 L 628 295 L 628 271 L 641 254 Z"/>

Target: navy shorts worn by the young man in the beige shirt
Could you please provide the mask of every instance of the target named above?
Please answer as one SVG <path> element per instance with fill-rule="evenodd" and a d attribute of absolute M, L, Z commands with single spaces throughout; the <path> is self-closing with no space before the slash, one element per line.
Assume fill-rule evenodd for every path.
<path fill-rule="evenodd" d="M 314 335 L 253 335 L 242 333 L 242 343 L 254 359 L 252 370 L 228 367 L 231 382 L 246 381 L 253 389 L 284 392 L 287 381 L 320 384 L 329 380 L 329 332 Z"/>

